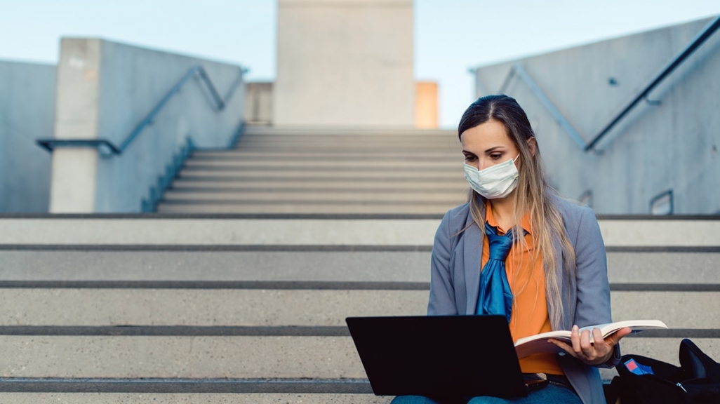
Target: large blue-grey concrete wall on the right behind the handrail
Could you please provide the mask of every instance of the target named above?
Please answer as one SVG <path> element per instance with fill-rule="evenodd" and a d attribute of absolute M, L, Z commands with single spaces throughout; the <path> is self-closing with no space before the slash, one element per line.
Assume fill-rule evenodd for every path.
<path fill-rule="evenodd" d="M 519 63 L 588 143 L 711 19 L 702 19 L 477 69 L 479 93 L 497 93 Z M 515 97 L 536 130 L 549 177 L 570 199 L 590 192 L 595 212 L 647 214 L 672 189 L 675 214 L 720 211 L 720 33 L 649 99 L 585 153 L 513 76 Z M 484 89 L 484 91 L 483 91 Z M 477 94 L 478 96 L 483 94 Z"/>

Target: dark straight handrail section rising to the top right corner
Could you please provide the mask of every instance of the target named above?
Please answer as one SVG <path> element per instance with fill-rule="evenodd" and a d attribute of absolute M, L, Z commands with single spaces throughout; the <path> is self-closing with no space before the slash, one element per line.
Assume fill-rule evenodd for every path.
<path fill-rule="evenodd" d="M 710 24 L 708 24 L 708 26 L 705 27 L 705 29 L 702 30 L 690 42 L 690 44 L 688 44 L 688 46 L 685 47 L 685 49 L 681 50 L 680 53 L 678 53 L 678 55 L 675 56 L 675 58 L 672 58 L 672 60 L 670 60 L 670 63 L 667 63 L 667 65 L 664 68 L 662 68 L 660 73 L 657 73 L 657 75 L 655 75 L 652 78 L 652 80 L 650 80 L 650 83 L 647 86 L 645 86 L 645 88 L 642 91 L 640 91 L 640 93 L 637 94 L 637 96 L 635 96 L 635 98 L 632 99 L 631 102 L 629 102 L 627 104 L 627 106 L 624 109 L 622 109 L 621 112 L 618 113 L 618 115 L 613 117 L 613 119 L 611 119 L 610 122 L 608 122 L 608 124 L 605 125 L 605 127 L 603 127 L 603 129 L 600 130 L 600 132 L 597 135 L 595 135 L 595 138 L 593 138 L 593 140 L 591 140 L 590 143 L 588 143 L 588 145 L 585 146 L 585 151 L 590 151 L 593 148 L 595 148 L 595 145 L 597 145 L 598 142 L 600 142 L 600 140 L 605 135 L 607 135 L 608 132 L 610 132 L 610 130 L 615 125 L 617 125 L 617 123 L 620 122 L 620 120 L 622 120 L 625 115 L 628 115 L 628 113 L 642 99 L 647 97 L 647 95 L 650 93 L 650 91 L 652 91 L 655 87 L 657 87 L 657 85 L 660 84 L 662 82 L 662 80 L 665 79 L 665 77 L 667 77 L 670 73 L 672 73 L 672 71 L 674 71 L 675 68 L 680 66 L 680 64 L 682 64 L 685 61 L 685 59 L 688 58 L 688 56 L 690 56 L 693 52 L 695 52 L 695 50 L 697 48 L 699 48 L 700 45 L 702 45 L 703 42 L 705 42 L 708 39 L 708 37 L 713 35 L 715 33 L 715 31 L 718 30 L 718 28 L 720 28 L 720 16 L 717 17 L 716 19 L 714 19 Z"/>

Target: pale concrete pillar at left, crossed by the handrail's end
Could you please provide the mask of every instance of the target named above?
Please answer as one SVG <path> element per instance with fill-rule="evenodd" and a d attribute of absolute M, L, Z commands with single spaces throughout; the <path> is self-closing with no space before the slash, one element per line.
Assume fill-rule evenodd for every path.
<path fill-rule="evenodd" d="M 55 138 L 97 138 L 101 41 L 63 38 L 58 64 Z M 53 152 L 51 213 L 95 212 L 98 155 L 94 149 Z"/>

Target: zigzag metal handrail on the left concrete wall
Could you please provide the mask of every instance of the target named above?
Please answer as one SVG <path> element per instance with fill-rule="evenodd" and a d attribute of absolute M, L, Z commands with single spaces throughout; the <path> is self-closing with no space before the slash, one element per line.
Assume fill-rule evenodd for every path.
<path fill-rule="evenodd" d="M 180 81 L 178 81 L 170 91 L 168 91 L 165 96 L 156 104 L 153 109 L 150 110 L 150 113 L 143 118 L 143 120 L 138 123 L 138 125 L 135 127 L 135 129 L 130 132 L 130 135 L 127 135 L 127 138 L 120 143 L 120 145 L 115 145 L 112 143 L 112 141 L 107 139 L 38 139 L 36 140 L 37 144 L 40 145 L 40 147 L 45 148 L 47 151 L 52 152 L 55 148 L 96 148 L 99 153 L 102 154 L 102 156 L 120 156 L 125 149 L 132 143 L 135 138 L 138 138 L 138 135 L 145 130 L 145 127 L 148 127 L 149 125 L 152 125 L 153 120 L 158 115 L 159 112 L 168 104 L 170 99 L 179 91 L 182 89 L 182 87 L 191 79 L 194 77 L 199 77 L 202 82 L 207 86 L 208 91 L 210 91 L 210 96 L 212 97 L 213 102 L 215 103 L 214 107 L 217 108 L 218 111 L 222 111 L 225 109 L 225 106 L 228 104 L 228 101 L 230 100 L 230 96 L 235 94 L 235 90 L 238 89 L 238 86 L 243 81 L 243 74 L 245 73 L 245 70 L 243 68 L 240 68 L 240 76 L 238 76 L 238 79 L 233 83 L 233 85 L 230 87 L 230 91 L 228 92 L 228 96 L 225 97 L 225 99 L 222 99 L 220 94 L 217 92 L 217 89 L 215 89 L 215 85 L 212 84 L 212 80 L 210 80 L 210 77 L 207 76 L 207 72 L 205 69 L 200 66 L 193 66 L 190 68 L 187 73 L 185 73 L 185 76 L 183 76 Z"/>

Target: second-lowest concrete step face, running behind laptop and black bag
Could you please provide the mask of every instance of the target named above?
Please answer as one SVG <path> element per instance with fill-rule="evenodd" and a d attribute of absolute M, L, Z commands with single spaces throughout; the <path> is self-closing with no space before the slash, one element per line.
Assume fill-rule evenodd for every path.
<path fill-rule="evenodd" d="M 642 334 L 624 338 L 624 354 L 678 364 L 682 336 Z M 720 338 L 692 339 L 720 358 Z M 366 378 L 350 337 L 0 336 L 0 346 L 1 377 Z"/>

